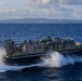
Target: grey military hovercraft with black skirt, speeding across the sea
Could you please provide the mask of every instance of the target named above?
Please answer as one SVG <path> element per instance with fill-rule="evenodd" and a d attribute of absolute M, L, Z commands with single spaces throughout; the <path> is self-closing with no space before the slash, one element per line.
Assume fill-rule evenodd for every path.
<path fill-rule="evenodd" d="M 59 52 L 81 55 L 82 44 L 77 43 L 73 39 L 54 38 L 47 36 L 46 39 L 38 41 L 24 41 L 16 44 L 13 40 L 4 41 L 5 54 L 3 54 L 3 62 L 12 63 L 30 63 L 39 60 L 42 56 L 47 56 L 47 52 Z"/>

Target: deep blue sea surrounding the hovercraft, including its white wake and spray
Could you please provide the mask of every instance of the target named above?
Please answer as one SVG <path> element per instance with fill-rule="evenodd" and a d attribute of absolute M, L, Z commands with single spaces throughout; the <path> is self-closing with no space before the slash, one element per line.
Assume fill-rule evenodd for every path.
<path fill-rule="evenodd" d="M 82 81 L 82 57 L 50 53 L 49 58 L 25 66 L 2 62 L 3 41 L 40 40 L 51 36 L 82 42 L 82 24 L 0 24 L 0 81 Z"/>

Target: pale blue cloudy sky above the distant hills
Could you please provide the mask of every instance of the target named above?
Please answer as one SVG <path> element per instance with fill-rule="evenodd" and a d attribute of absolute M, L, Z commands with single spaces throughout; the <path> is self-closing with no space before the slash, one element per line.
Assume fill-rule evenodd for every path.
<path fill-rule="evenodd" d="M 0 19 L 82 19 L 82 0 L 0 0 Z"/>

